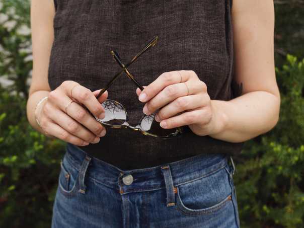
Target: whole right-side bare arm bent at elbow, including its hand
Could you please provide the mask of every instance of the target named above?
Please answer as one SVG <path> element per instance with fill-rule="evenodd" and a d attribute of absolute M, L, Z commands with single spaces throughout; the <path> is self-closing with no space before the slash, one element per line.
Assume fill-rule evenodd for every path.
<path fill-rule="evenodd" d="M 163 128 L 188 125 L 197 135 L 242 142 L 276 125 L 280 95 L 274 67 L 273 1 L 234 0 L 232 17 L 234 77 L 243 86 L 242 96 L 210 100 L 206 84 L 193 70 L 164 72 L 144 90 L 136 90 L 139 100 L 146 102 L 145 114 L 161 108 L 156 120 Z"/>

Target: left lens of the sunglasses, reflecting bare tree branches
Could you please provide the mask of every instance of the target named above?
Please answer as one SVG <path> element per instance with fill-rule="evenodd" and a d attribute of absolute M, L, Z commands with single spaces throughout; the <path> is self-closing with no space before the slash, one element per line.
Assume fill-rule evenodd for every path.
<path fill-rule="evenodd" d="M 103 123 L 121 125 L 126 121 L 126 111 L 120 103 L 107 99 L 102 103 L 102 106 L 106 114 L 105 118 L 101 119 Z"/>

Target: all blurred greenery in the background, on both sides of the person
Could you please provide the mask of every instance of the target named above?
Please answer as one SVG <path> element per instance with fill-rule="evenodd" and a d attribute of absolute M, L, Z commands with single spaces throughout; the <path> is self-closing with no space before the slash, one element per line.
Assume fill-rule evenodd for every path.
<path fill-rule="evenodd" d="M 304 227 L 304 1 L 274 1 L 277 126 L 235 158 L 242 227 Z M 63 141 L 26 117 L 30 4 L 0 0 L 0 227 L 49 227 Z"/>

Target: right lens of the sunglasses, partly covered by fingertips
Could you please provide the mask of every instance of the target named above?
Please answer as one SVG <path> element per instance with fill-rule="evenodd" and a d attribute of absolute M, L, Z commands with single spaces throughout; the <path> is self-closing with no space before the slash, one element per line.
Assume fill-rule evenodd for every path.
<path fill-rule="evenodd" d="M 142 117 L 140 121 L 140 126 L 142 130 L 151 133 L 151 134 L 156 134 L 158 136 L 167 136 L 171 133 L 176 132 L 176 128 L 173 129 L 164 129 L 160 126 L 160 123 L 157 122 L 154 117 L 157 112 L 154 112 L 150 115 L 145 115 Z"/>

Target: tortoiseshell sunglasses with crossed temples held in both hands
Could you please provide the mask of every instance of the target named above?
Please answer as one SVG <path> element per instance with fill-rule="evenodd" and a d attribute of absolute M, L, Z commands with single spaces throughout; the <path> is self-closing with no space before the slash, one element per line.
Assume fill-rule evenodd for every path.
<path fill-rule="evenodd" d="M 122 63 L 118 53 L 116 51 L 111 51 L 112 56 L 122 67 L 121 71 L 116 73 L 114 77 L 108 82 L 105 88 L 103 88 L 99 94 L 97 95 L 97 99 L 111 86 L 111 84 L 118 78 L 118 76 L 125 72 L 127 77 L 142 91 L 144 88 L 135 80 L 132 73 L 127 69 L 142 53 L 144 53 L 149 48 L 156 45 L 158 40 L 158 36 L 156 36 L 153 40 L 151 40 L 132 60 L 126 65 Z M 102 125 L 109 126 L 111 128 L 129 128 L 134 131 L 139 131 L 144 135 L 161 137 L 161 138 L 170 138 L 178 136 L 182 133 L 182 128 L 177 127 L 173 129 L 164 129 L 160 126 L 160 124 L 155 120 L 156 114 L 159 110 L 156 110 L 154 113 L 150 115 L 143 115 L 139 120 L 136 126 L 131 126 L 128 123 L 128 113 L 125 107 L 117 101 L 106 99 L 102 103 L 103 108 L 105 109 L 105 118 L 99 119 L 96 116 L 95 119 L 101 123 Z"/>

